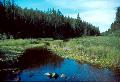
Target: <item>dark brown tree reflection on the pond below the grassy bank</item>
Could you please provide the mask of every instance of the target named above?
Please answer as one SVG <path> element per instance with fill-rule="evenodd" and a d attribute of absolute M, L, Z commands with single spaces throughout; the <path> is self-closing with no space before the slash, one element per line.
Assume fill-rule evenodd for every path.
<path fill-rule="evenodd" d="M 23 55 L 18 58 L 18 66 L 20 68 L 35 68 L 51 64 L 54 67 L 59 67 L 63 58 L 51 52 L 47 48 L 30 48 L 25 50 Z"/>

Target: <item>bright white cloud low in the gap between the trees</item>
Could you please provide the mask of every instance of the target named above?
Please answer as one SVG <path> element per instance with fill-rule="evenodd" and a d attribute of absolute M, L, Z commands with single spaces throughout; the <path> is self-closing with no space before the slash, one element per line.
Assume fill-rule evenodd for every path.
<path fill-rule="evenodd" d="M 92 23 L 95 26 L 100 27 L 100 31 L 103 32 L 110 28 L 111 23 L 115 19 L 114 10 L 93 10 L 80 13 L 80 17 Z"/>

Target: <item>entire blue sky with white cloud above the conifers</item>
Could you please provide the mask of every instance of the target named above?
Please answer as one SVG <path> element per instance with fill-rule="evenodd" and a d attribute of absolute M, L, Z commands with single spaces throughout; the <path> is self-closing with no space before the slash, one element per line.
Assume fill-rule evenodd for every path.
<path fill-rule="evenodd" d="M 47 10 L 48 8 L 60 9 L 60 11 L 73 18 L 80 14 L 82 20 L 97 27 L 101 32 L 110 28 L 115 20 L 116 8 L 120 6 L 120 0 L 15 0 L 25 8 Z"/>

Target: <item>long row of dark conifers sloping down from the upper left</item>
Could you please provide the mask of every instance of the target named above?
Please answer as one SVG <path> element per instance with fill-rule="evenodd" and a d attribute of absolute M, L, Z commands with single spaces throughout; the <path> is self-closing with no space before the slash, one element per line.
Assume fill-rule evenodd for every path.
<path fill-rule="evenodd" d="M 66 39 L 100 35 L 99 28 L 77 18 L 64 16 L 60 10 L 22 9 L 10 0 L 0 2 L 0 33 L 14 38 L 52 37 Z"/>

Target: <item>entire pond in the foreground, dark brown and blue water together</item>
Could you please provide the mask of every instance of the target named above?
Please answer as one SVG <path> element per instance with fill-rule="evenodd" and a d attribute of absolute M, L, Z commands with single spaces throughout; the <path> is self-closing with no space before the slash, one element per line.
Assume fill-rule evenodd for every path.
<path fill-rule="evenodd" d="M 26 49 L 18 58 L 16 67 L 0 71 L 4 81 L 87 81 L 119 82 L 120 74 L 109 69 L 99 69 L 92 65 L 63 59 L 47 48 Z M 45 73 L 56 73 L 58 78 L 49 78 Z M 65 76 L 66 78 L 64 78 Z"/>

